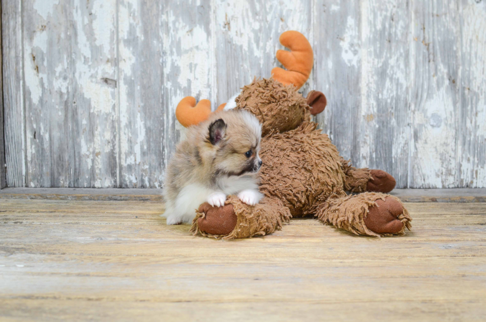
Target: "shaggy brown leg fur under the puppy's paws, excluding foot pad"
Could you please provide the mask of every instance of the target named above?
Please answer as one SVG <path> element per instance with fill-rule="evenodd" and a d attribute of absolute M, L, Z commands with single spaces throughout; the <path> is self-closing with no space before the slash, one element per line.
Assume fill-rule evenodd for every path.
<path fill-rule="evenodd" d="M 237 216 L 236 226 L 230 233 L 217 235 L 201 229 L 202 227 L 198 226 L 198 221 L 206 215 L 201 212 L 197 212 L 196 217 L 192 221 L 190 231 L 194 235 L 199 233 L 202 236 L 217 239 L 263 236 L 273 233 L 277 229 L 281 229 L 282 225 L 292 217 L 289 209 L 284 207 L 280 200 L 268 197 L 264 197 L 254 206 L 249 206 L 241 202 L 237 196 L 230 195 L 226 199 L 225 205 L 233 205 L 234 212 Z"/>

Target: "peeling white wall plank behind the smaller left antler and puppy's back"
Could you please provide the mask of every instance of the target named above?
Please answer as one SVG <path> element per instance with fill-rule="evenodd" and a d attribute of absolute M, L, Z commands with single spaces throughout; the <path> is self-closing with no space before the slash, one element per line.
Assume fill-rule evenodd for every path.
<path fill-rule="evenodd" d="M 164 108 L 163 167 L 167 166 L 175 146 L 184 135 L 175 111 L 185 96 L 210 99 L 218 91 L 215 72 L 214 1 L 171 1 L 163 15 Z M 161 186 L 161 182 L 156 187 Z"/>

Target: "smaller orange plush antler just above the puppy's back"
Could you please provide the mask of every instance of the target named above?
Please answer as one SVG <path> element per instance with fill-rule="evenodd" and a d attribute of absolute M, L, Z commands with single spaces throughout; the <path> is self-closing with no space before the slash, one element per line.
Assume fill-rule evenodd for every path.
<path fill-rule="evenodd" d="M 215 112 L 223 110 L 226 104 L 221 104 Z M 176 108 L 176 118 L 184 128 L 197 125 L 207 120 L 211 114 L 211 102 L 200 100 L 196 104 L 196 99 L 192 96 L 184 97 Z"/>

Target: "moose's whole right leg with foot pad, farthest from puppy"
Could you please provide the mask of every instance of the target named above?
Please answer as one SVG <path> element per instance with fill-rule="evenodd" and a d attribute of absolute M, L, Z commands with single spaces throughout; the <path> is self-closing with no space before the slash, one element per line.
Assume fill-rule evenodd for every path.
<path fill-rule="evenodd" d="M 316 216 L 357 235 L 403 235 L 405 228 L 412 228 L 412 218 L 402 202 L 384 193 L 331 196 Z"/>

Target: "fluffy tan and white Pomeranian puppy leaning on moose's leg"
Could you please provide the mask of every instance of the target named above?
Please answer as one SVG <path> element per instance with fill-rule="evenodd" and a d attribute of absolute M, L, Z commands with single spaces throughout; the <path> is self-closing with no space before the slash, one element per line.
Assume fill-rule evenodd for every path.
<path fill-rule="evenodd" d="M 166 171 L 167 224 L 192 222 L 201 203 L 220 207 L 229 194 L 249 205 L 258 203 L 263 196 L 257 175 L 260 140 L 258 120 L 241 110 L 213 113 L 190 127 Z"/>

